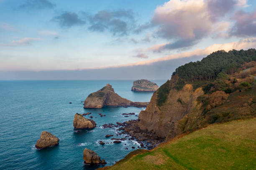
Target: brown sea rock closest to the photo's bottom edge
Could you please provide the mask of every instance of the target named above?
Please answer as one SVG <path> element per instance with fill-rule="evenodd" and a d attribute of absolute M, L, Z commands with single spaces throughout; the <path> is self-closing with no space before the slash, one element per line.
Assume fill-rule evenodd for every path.
<path fill-rule="evenodd" d="M 85 164 L 106 164 L 105 160 L 100 160 L 100 156 L 97 155 L 93 150 L 84 149 L 83 160 Z"/>

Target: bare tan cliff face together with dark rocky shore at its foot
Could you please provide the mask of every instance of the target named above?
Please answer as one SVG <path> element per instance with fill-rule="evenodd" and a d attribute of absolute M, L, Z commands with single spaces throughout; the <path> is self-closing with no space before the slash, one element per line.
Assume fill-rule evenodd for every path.
<path fill-rule="evenodd" d="M 167 83 L 174 83 L 176 81 L 174 79 L 175 76 Z M 141 141 L 153 140 L 151 141 L 153 144 L 163 142 L 167 136 L 172 138 L 180 134 L 175 123 L 192 112 L 197 106 L 197 97 L 203 94 L 202 87 L 194 91 L 191 84 L 186 84 L 179 91 L 172 88 L 166 101 L 159 107 L 157 92 L 155 92 L 146 110 L 140 112 L 138 121 L 127 124 L 124 130 Z"/>

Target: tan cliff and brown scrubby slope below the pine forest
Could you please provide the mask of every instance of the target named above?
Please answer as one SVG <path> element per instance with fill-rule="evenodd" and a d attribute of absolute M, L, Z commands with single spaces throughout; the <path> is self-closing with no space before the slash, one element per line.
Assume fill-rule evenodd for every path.
<path fill-rule="evenodd" d="M 178 74 L 154 92 L 146 110 L 124 130 L 139 140 L 161 143 L 182 133 L 195 131 L 212 123 L 256 116 L 256 82 L 243 69 L 216 80 L 185 82 Z M 150 140 L 154 140 L 153 142 Z"/>

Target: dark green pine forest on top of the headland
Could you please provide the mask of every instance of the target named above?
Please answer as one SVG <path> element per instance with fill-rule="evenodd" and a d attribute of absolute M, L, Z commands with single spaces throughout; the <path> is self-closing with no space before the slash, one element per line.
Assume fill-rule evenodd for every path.
<path fill-rule="evenodd" d="M 214 80 L 220 74 L 233 74 L 244 62 L 256 61 L 256 50 L 219 50 L 212 52 L 201 61 L 189 62 L 178 67 L 172 75 L 186 82 Z"/>

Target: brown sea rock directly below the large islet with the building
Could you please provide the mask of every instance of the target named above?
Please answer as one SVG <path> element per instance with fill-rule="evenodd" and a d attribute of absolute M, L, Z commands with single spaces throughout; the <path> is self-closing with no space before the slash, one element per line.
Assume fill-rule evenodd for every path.
<path fill-rule="evenodd" d="M 92 119 L 86 119 L 77 113 L 74 115 L 73 126 L 75 129 L 91 129 L 95 128 L 96 123 Z"/>

